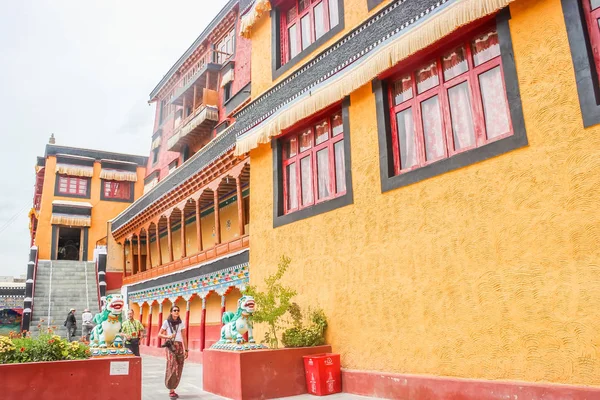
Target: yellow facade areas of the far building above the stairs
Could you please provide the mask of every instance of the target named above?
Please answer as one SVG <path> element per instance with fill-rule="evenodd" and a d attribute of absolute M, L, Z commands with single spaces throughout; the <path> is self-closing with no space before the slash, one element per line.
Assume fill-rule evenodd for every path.
<path fill-rule="evenodd" d="M 138 167 L 137 169 L 137 182 L 135 182 L 134 184 L 134 198 L 136 199 L 139 198 L 144 191 L 144 175 L 146 173 L 145 170 L 146 169 L 144 167 Z M 49 260 L 51 256 L 52 201 L 80 201 L 90 203 L 92 205 L 92 223 L 88 233 L 88 261 L 91 261 L 94 258 L 94 249 L 96 248 L 96 242 L 107 236 L 108 220 L 119 215 L 130 205 L 130 203 L 100 200 L 100 191 L 102 189 L 100 171 L 100 163 L 95 162 L 94 175 L 91 179 L 91 191 L 89 199 L 55 196 L 54 188 L 56 185 L 56 157 L 48 156 L 46 158 L 46 168 L 44 172 L 44 188 L 42 192 L 42 204 L 40 208 L 40 217 L 35 238 L 35 244 L 39 248 L 39 258 L 41 260 Z M 109 271 L 119 270 L 119 268 L 122 268 L 122 256 L 115 256 L 115 258 L 111 257 L 109 261 L 110 263 L 107 266 Z"/>

